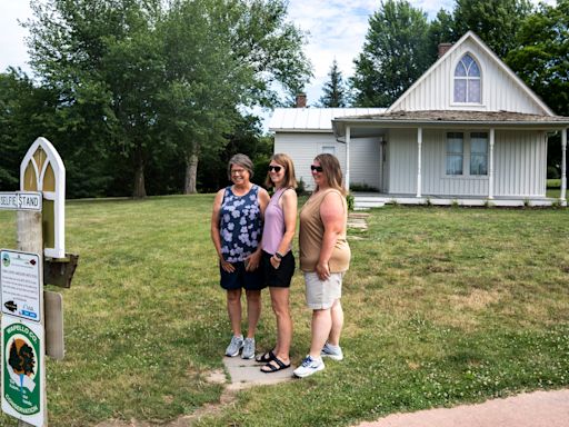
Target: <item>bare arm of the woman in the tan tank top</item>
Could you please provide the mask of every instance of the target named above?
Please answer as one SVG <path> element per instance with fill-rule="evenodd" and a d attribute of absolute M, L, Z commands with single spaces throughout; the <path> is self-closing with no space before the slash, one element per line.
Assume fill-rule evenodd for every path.
<path fill-rule="evenodd" d="M 326 195 L 320 205 L 320 218 L 325 226 L 325 235 L 322 236 L 322 247 L 320 248 L 320 257 L 316 265 L 316 272 L 320 280 L 330 277 L 330 266 L 328 262 L 332 256 L 333 247 L 338 240 L 338 236 L 343 231 L 345 207 L 341 196 L 331 191 Z"/>

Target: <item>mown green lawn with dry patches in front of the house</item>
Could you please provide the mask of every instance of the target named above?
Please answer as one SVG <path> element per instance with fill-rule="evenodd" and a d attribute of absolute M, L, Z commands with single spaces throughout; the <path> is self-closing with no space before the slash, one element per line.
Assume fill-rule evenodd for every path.
<path fill-rule="evenodd" d="M 209 240 L 212 195 L 72 201 L 67 355 L 48 360 L 50 425 L 160 424 L 217 403 L 206 378 L 230 338 Z M 566 209 L 386 207 L 350 232 L 346 359 L 241 391 L 199 426 L 348 426 L 395 413 L 569 386 Z M 0 211 L 0 247 L 14 247 Z M 310 311 L 296 275 L 293 361 Z M 272 344 L 269 298 L 257 336 Z M 16 426 L 0 416 L 0 425 Z"/>

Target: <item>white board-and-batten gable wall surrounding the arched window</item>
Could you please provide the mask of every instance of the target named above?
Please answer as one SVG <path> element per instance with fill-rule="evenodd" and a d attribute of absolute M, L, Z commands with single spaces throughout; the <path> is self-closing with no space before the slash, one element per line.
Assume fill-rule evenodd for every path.
<path fill-rule="evenodd" d="M 455 100 L 455 72 L 466 54 L 473 59 L 479 70 L 479 102 Z M 547 105 L 472 31 L 439 58 L 387 112 L 400 110 L 511 111 L 553 116 Z"/>

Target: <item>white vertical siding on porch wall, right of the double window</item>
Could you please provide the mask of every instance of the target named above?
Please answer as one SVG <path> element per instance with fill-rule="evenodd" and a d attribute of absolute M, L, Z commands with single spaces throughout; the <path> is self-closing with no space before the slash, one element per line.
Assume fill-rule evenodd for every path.
<path fill-rule="evenodd" d="M 546 196 L 547 139 L 539 131 L 497 131 L 495 195 Z"/>

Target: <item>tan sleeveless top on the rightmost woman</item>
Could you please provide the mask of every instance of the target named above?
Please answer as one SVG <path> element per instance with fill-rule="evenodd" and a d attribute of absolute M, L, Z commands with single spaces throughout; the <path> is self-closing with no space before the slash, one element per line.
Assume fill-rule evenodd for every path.
<path fill-rule="evenodd" d="M 328 261 L 330 272 L 342 272 L 350 267 L 350 247 L 346 240 L 346 228 L 348 224 L 348 205 L 342 193 L 333 188 L 323 191 L 317 191 L 312 195 L 300 210 L 300 231 L 299 231 L 299 252 L 300 269 L 302 271 L 315 271 L 320 257 L 322 238 L 325 235 L 325 225 L 320 218 L 320 205 L 325 197 L 330 192 L 337 192 L 340 196 L 343 207 L 343 227 L 341 234 L 336 240 L 332 256 Z"/>

